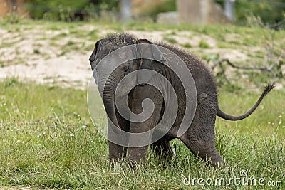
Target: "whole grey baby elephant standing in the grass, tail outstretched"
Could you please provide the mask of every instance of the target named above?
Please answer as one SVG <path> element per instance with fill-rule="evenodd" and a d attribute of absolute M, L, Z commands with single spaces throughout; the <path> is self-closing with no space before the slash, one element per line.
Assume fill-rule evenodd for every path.
<path fill-rule="evenodd" d="M 124 50 L 124 47 L 127 46 L 131 48 Z M 159 47 L 171 51 L 172 55 L 162 52 Z M 108 58 L 107 61 L 106 58 L 110 54 L 112 54 L 111 58 Z M 173 61 L 171 56 L 180 58 L 185 64 L 186 69 L 183 70 L 190 72 L 190 75 L 187 77 L 177 75 L 172 68 L 179 64 L 177 61 Z M 133 59 L 128 59 L 129 57 Z M 171 158 L 173 152 L 170 140 L 178 138 L 196 157 L 214 166 L 219 166 L 223 164 L 223 159 L 215 148 L 216 115 L 225 120 L 242 120 L 251 115 L 261 100 L 274 88 L 273 84 L 267 85 L 259 100 L 248 112 L 244 115 L 233 116 L 227 115 L 219 109 L 217 85 L 202 61 L 180 48 L 165 43 L 152 43 L 146 39 L 137 39 L 128 34 L 115 34 L 97 41 L 89 60 L 100 95 L 103 98 L 105 112 L 108 115 L 110 161 L 127 157 L 130 163 L 143 162 L 148 147 L 151 147 L 160 159 Z M 119 62 L 120 64 L 118 64 Z M 153 72 L 147 73 L 145 70 Z M 138 71 L 146 73 L 139 74 Z M 132 73 L 135 74 L 131 75 Z M 163 77 L 157 77 L 157 75 Z M 128 76 L 125 83 L 137 84 L 129 90 L 126 87 L 128 85 L 120 85 L 121 80 L 123 81 L 123 78 Z M 195 92 L 191 91 L 192 97 L 189 99 L 186 94 L 187 88 L 182 81 L 185 78 L 192 78 L 195 86 Z M 157 86 L 152 85 L 154 83 Z M 116 89 L 118 85 L 120 85 L 120 89 Z M 165 98 L 165 95 L 168 97 Z M 125 109 L 120 112 L 120 104 L 124 103 L 120 99 L 125 100 L 129 110 Z M 150 105 L 146 104 L 149 102 L 148 100 L 152 102 Z M 176 108 L 172 103 L 166 102 L 170 100 L 177 103 Z M 195 102 L 192 106 L 193 109 L 187 108 L 187 100 Z M 133 115 L 143 116 L 145 110 L 152 112 L 145 120 L 138 122 L 132 119 Z M 166 110 L 173 112 L 174 119 L 172 114 L 167 118 L 163 117 Z M 192 122 L 181 133 L 180 125 L 185 118 L 191 119 Z M 152 130 L 159 123 L 162 123 L 162 127 Z M 113 126 L 115 126 L 115 130 Z M 132 136 L 133 134 L 145 134 L 148 131 L 152 131 L 147 133 L 148 136 L 138 138 Z M 122 136 L 121 132 L 129 133 L 130 136 Z M 160 138 L 153 140 L 154 137 Z M 141 146 L 128 145 L 128 143 L 134 144 L 134 142 L 140 144 L 145 139 L 150 143 L 141 143 Z M 128 143 L 117 143 L 120 140 Z"/>

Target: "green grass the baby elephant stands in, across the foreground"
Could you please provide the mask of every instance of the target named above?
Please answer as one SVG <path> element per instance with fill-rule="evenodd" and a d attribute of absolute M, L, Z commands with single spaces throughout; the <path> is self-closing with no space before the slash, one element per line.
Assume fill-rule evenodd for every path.
<path fill-rule="evenodd" d="M 222 110 L 240 114 L 251 107 L 256 93 L 220 89 Z M 38 189 L 263 189 L 266 186 L 185 186 L 183 176 L 249 177 L 281 181 L 284 187 L 285 93 L 274 90 L 257 112 L 240 122 L 217 119 L 217 149 L 227 167 L 214 169 L 178 140 L 167 166 L 151 152 L 147 164 L 132 171 L 123 161 L 108 162 L 108 142 L 92 125 L 86 92 L 52 85 L 0 83 L 0 186 Z M 98 104 L 101 104 L 100 100 Z M 278 103 L 276 103 L 278 101 Z M 102 112 L 102 111 L 100 111 Z M 99 113 L 99 112 L 98 112 Z M 283 117 L 279 117 L 283 115 Z M 274 122 L 275 124 L 268 124 Z M 281 122 L 279 124 L 279 122 Z M 87 126 L 83 129 L 83 125 Z M 260 125 L 260 126 L 259 126 Z M 247 127 L 245 127 L 247 126 Z M 254 135 L 253 135 L 254 134 Z"/>

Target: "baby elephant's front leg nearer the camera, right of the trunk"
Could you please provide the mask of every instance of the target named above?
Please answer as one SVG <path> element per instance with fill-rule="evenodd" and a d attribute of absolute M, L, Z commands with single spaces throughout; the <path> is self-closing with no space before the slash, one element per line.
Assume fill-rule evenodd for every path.
<path fill-rule="evenodd" d="M 152 100 L 154 105 L 153 110 L 150 109 L 151 106 L 145 106 L 145 110 L 142 109 L 142 102 L 146 99 Z M 137 86 L 133 90 L 131 111 L 134 115 L 130 117 L 131 122 L 128 152 L 130 163 L 145 162 L 147 149 L 149 145 L 152 144 L 152 129 L 160 121 L 162 105 L 162 95 L 156 88 L 152 88 L 150 85 L 143 85 Z M 151 110 L 153 112 L 149 114 Z M 150 115 L 150 117 L 147 117 L 146 115 Z M 140 122 L 138 121 L 139 117 L 144 119 Z"/>

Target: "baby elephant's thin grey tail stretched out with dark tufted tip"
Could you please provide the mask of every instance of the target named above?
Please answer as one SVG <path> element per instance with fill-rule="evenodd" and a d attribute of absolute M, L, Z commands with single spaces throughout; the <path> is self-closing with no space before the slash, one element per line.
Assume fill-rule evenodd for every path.
<path fill-rule="evenodd" d="M 254 112 L 254 110 L 257 109 L 257 107 L 259 106 L 260 102 L 263 100 L 263 98 L 274 88 L 274 84 L 268 84 L 266 86 L 266 88 L 264 88 L 263 93 L 261 94 L 261 96 L 259 97 L 259 100 L 257 100 L 257 102 L 255 103 L 255 105 L 248 110 L 245 114 L 243 115 L 227 115 L 226 113 L 224 113 L 222 110 L 219 109 L 219 106 L 217 106 L 217 116 L 222 117 L 225 120 L 232 120 L 232 121 L 236 121 L 236 120 L 243 120 L 244 118 L 248 117 L 249 115 L 252 114 L 252 112 Z"/>

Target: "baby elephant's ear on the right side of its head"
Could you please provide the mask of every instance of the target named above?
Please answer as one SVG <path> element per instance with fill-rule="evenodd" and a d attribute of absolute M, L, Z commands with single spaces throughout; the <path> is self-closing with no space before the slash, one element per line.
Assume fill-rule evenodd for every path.
<path fill-rule="evenodd" d="M 137 56 L 138 56 L 138 69 L 147 69 L 147 70 L 157 70 L 157 66 L 155 64 L 161 64 L 165 62 L 165 57 L 162 52 L 156 46 L 144 46 L 140 44 L 152 44 L 147 39 L 140 39 L 136 41 L 137 46 Z M 148 59 L 151 58 L 151 59 Z M 139 72 L 137 75 L 137 80 L 140 85 L 144 85 L 151 78 L 153 78 L 153 74 L 151 73 L 142 73 Z"/>

